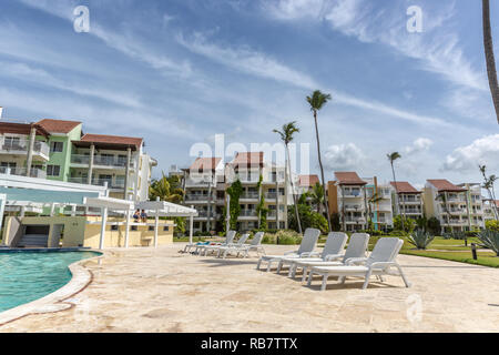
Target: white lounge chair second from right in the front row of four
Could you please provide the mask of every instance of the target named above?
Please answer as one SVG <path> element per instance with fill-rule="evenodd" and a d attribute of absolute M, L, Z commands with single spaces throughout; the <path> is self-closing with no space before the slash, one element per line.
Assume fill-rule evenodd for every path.
<path fill-rule="evenodd" d="M 296 260 L 292 265 L 293 268 L 292 277 L 296 276 L 296 271 L 302 268 L 303 276 L 302 282 L 305 282 L 307 277 L 308 270 L 314 266 L 342 266 L 346 265 L 350 260 L 366 260 L 367 246 L 369 244 L 369 234 L 367 233 L 354 233 L 350 236 L 348 247 L 345 254 L 327 255 L 323 261 L 308 261 L 308 260 Z"/>

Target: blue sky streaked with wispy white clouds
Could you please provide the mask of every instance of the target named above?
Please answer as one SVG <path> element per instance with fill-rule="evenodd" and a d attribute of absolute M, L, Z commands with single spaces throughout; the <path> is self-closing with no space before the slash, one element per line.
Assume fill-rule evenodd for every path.
<path fill-rule="evenodd" d="M 89 33 L 73 9 L 90 9 Z M 422 9 L 409 33 L 406 10 Z M 499 6 L 492 1 L 499 57 Z M 479 181 L 499 174 L 478 1 L 373 0 L 3 0 L 0 12 L 3 116 L 81 120 L 85 132 L 143 136 L 160 161 L 190 165 L 190 148 L 275 143 L 296 120 L 312 144 L 305 98 L 319 113 L 328 178 L 356 170 L 400 180 Z"/>

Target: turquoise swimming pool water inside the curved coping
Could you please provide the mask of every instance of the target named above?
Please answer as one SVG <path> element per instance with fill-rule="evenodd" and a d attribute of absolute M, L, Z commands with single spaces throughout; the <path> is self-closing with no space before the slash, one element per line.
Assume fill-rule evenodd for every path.
<path fill-rule="evenodd" d="M 98 255 L 94 252 L 0 253 L 0 312 L 61 288 L 71 280 L 69 265 Z"/>

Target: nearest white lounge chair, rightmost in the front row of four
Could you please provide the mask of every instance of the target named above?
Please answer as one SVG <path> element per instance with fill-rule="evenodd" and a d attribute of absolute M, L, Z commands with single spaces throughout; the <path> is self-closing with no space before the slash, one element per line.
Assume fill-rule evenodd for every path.
<path fill-rule="evenodd" d="M 314 275 L 323 276 L 322 291 L 326 290 L 327 278 L 329 276 L 338 276 L 342 284 L 345 283 L 346 277 L 357 276 L 365 278 L 363 290 L 366 290 L 371 275 L 379 276 L 381 282 L 383 275 L 395 275 L 404 280 L 406 287 L 410 287 L 410 283 L 406 278 L 400 265 L 396 262 L 396 257 L 403 245 L 404 241 L 397 237 L 383 237 L 376 244 L 370 256 L 364 262 L 364 265 L 313 267 L 308 276 L 308 286 L 312 285 Z M 361 261 L 350 261 L 349 263 L 357 264 L 358 262 L 361 263 Z M 390 271 L 391 267 L 397 268 L 398 272 Z"/>

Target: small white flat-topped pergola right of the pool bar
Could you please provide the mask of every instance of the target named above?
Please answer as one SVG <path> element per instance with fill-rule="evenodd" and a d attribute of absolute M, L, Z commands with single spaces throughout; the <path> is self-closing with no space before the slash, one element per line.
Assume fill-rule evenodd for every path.
<path fill-rule="evenodd" d="M 165 201 L 145 201 L 135 204 L 135 209 L 145 210 L 154 213 L 155 216 L 155 227 L 154 227 L 154 245 L 157 246 L 157 225 L 160 223 L 160 217 L 190 217 L 191 229 L 189 233 L 189 240 L 192 244 L 193 241 L 193 226 L 194 217 L 198 215 L 197 210 L 194 207 L 181 206 Z"/>

